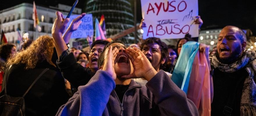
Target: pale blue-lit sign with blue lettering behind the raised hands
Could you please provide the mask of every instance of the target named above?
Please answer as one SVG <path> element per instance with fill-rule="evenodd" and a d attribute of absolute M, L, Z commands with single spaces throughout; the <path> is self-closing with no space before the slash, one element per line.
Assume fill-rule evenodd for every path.
<path fill-rule="evenodd" d="M 69 17 L 70 21 L 67 23 L 66 30 L 69 27 L 72 20 L 75 19 L 78 16 L 79 15 L 77 14 L 77 15 L 71 15 Z M 79 25 L 78 29 L 72 33 L 70 38 L 86 38 L 88 35 L 90 37 L 93 37 L 93 15 L 92 14 L 86 14 L 81 19 L 81 21 L 82 21 L 82 23 Z"/>

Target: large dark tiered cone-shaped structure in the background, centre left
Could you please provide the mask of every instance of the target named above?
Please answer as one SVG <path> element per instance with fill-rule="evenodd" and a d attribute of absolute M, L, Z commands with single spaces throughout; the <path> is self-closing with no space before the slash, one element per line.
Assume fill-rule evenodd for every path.
<path fill-rule="evenodd" d="M 104 14 L 107 37 L 134 27 L 134 15 L 129 0 L 87 0 L 84 8 L 86 13 L 93 14 L 93 21 L 96 18 L 100 19 Z M 134 33 L 123 38 L 124 40 L 134 39 Z"/>

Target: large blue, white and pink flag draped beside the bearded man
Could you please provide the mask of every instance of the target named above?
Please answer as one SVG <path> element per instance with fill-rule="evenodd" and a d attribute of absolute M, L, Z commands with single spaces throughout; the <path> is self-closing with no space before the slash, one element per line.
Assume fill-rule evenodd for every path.
<path fill-rule="evenodd" d="M 209 48 L 199 52 L 200 43 L 189 41 L 182 46 L 172 80 L 181 88 L 198 109 L 200 116 L 211 115 L 213 98 L 209 67 Z"/>

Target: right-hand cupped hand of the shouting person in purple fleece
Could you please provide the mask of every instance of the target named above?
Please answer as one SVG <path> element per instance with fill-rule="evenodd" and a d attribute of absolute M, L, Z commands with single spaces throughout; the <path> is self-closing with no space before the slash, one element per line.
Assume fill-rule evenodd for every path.
<path fill-rule="evenodd" d="M 123 78 L 144 78 L 147 81 L 152 79 L 157 74 L 147 57 L 136 47 L 128 47 L 125 52 L 128 54 L 129 59 L 134 68 L 134 72 L 130 75 L 124 75 Z"/>

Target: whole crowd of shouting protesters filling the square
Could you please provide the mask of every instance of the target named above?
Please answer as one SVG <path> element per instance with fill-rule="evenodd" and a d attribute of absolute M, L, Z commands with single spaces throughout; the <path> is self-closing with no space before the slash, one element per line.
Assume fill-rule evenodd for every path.
<path fill-rule="evenodd" d="M 1 116 L 17 115 L 2 103 L 18 97 L 28 116 L 256 116 L 256 53 L 239 27 L 223 27 L 212 51 L 186 34 L 176 46 L 153 36 L 130 45 L 88 36 L 86 52 L 67 46 L 85 15 L 71 21 L 56 11 L 52 36 L 20 50 L 0 46 Z M 200 30 L 200 16 L 194 24 Z M 148 26 L 142 19 L 139 27 Z"/>

